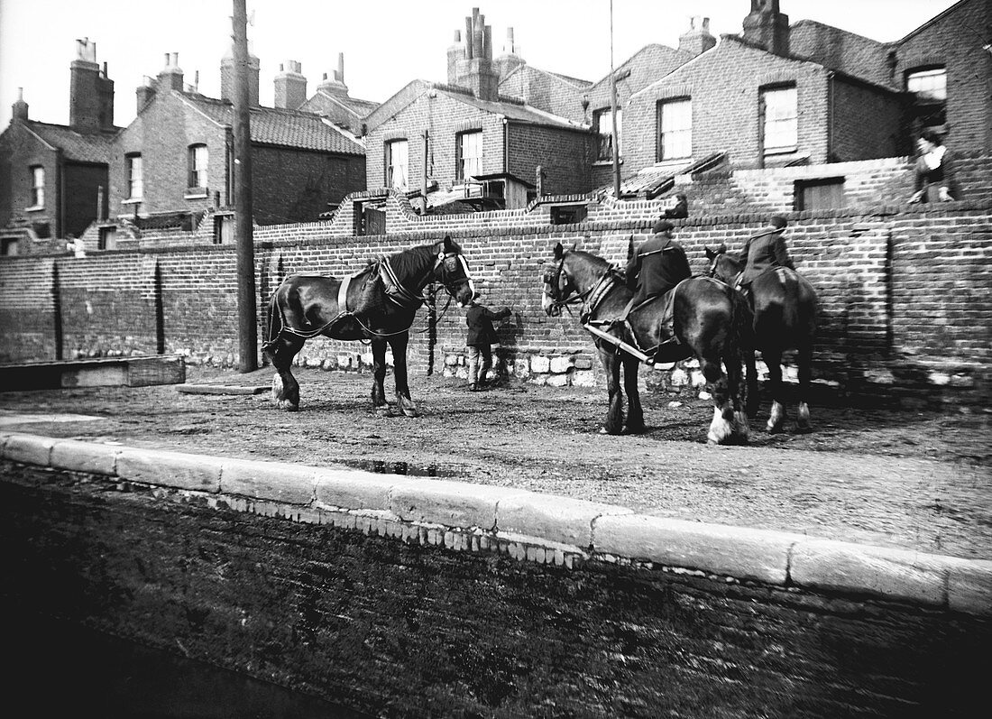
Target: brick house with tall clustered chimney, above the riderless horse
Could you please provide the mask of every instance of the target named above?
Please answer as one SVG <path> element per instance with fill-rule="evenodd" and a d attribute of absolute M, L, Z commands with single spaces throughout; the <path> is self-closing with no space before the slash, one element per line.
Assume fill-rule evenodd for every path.
<path fill-rule="evenodd" d="M 477 10 L 466 18 L 468 40 L 459 34 L 448 49 L 447 84 L 415 80 L 366 118 L 368 187 L 415 192 L 426 177 L 427 206 L 437 207 L 463 197 L 465 180 L 530 182 L 540 167 L 535 184 L 546 194 L 591 189 L 595 138 L 580 122 L 499 93 L 500 65 L 484 19 Z M 470 151 L 466 135 L 473 136 Z M 470 162 L 463 152 L 472 153 Z"/>

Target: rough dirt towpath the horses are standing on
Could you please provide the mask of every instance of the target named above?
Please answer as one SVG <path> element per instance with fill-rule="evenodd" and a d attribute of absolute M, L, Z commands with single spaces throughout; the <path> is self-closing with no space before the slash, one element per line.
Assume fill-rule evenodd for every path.
<path fill-rule="evenodd" d="M 811 408 L 808 434 L 764 430 L 746 446 L 705 443 L 694 395 L 646 393 L 648 430 L 599 432 L 605 390 L 413 376 L 422 416 L 377 416 L 369 374 L 296 369 L 301 409 L 270 394 L 189 395 L 176 386 L 0 393 L 0 430 L 400 474 L 624 505 L 691 521 L 798 532 L 992 559 L 992 414 Z M 187 384 L 270 386 L 187 367 Z M 387 377 L 392 395 L 392 377 Z M 792 412 L 792 408 L 790 408 Z M 98 419 L 64 421 L 65 414 Z M 23 418 L 22 415 L 33 415 Z M 27 421 L 26 421 L 27 419 Z"/>

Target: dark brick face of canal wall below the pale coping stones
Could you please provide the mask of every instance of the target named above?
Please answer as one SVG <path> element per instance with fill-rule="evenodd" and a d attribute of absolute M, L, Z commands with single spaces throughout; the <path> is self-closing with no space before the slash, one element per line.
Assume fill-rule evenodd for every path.
<path fill-rule="evenodd" d="M 2 469 L 7 616 L 377 716 L 963 717 L 984 697 L 984 616 Z"/>

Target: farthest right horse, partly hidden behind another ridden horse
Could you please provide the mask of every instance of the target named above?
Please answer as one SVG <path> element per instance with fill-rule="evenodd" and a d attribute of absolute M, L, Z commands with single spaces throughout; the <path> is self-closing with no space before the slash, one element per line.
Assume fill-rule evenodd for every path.
<path fill-rule="evenodd" d="M 706 248 L 709 276 L 734 286 L 744 266 L 727 254 L 726 245 L 716 250 Z M 809 426 L 809 382 L 811 377 L 812 347 L 816 335 L 818 300 L 816 291 L 802 275 L 786 267 L 762 273 L 751 283 L 754 299 L 755 346 L 761 351 L 768 366 L 772 413 L 766 428 L 770 432 L 782 430 L 786 420 L 785 385 L 782 382 L 782 355 L 796 350 L 799 365 L 799 406 L 797 428 L 801 432 Z M 748 415 L 758 414 L 758 373 L 754 356 L 745 357 L 748 376 Z"/>

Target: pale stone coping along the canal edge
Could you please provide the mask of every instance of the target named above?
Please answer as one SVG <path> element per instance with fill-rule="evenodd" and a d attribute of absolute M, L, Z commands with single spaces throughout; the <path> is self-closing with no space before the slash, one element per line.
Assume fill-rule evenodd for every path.
<path fill-rule="evenodd" d="M 504 487 L 0 432 L 0 458 L 186 501 L 572 568 L 634 563 L 992 616 L 992 561 L 638 515 Z"/>

